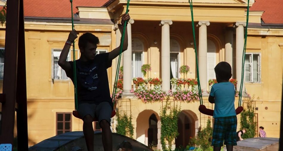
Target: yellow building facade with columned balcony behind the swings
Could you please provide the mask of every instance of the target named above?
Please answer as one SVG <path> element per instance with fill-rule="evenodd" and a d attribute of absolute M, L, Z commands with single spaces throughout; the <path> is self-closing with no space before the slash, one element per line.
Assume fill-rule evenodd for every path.
<path fill-rule="evenodd" d="M 127 1 L 109 1 L 104 7 L 77 7 L 79 19 L 75 29 L 82 35 L 91 32 L 99 37 L 98 53 L 109 52 L 119 46 L 121 31 L 117 23 L 126 11 Z M 250 4 L 252 6 L 252 4 Z M 200 84 L 204 104 L 208 102 L 209 79 L 214 79 L 214 66 L 227 61 L 237 79 L 241 79 L 241 58 L 244 46 L 247 3 L 243 0 L 194 1 L 195 34 L 198 47 Z M 185 0 L 131 0 L 131 20 L 128 24 L 129 47 L 123 53 L 123 93 L 117 107 L 132 117 L 133 138 L 149 145 L 154 140 L 161 148 L 160 108 L 164 101 L 144 103 L 132 92 L 132 79 L 143 77 L 141 65 L 150 64 L 144 78 L 161 78 L 162 90 L 171 89 L 171 78 L 197 78 L 189 3 Z M 279 137 L 280 105 L 283 74 L 283 27 L 262 27 L 263 12 L 249 12 L 247 50 L 245 60 L 246 92 L 254 96 L 257 127 L 265 127 L 268 137 Z M 29 145 L 54 135 L 82 130 L 83 121 L 71 115 L 74 110 L 74 86 L 56 64 L 71 23 L 39 18 L 25 19 L 28 135 Z M 7 34 L 7 33 L 6 33 Z M 5 27 L 0 27 L 0 48 L 5 44 Z M 76 58 L 80 56 L 76 40 Z M 69 60 L 72 60 L 70 51 Z M 240 61 L 239 61 L 240 60 Z M 113 89 L 117 59 L 108 69 L 110 89 Z M 182 65 L 190 67 L 186 75 L 179 73 Z M 238 97 L 235 106 L 238 105 Z M 247 98 L 244 98 L 244 104 Z M 209 118 L 198 111 L 199 101 L 180 102 L 171 97 L 171 105 L 180 105 L 178 132 L 173 147 L 187 145 L 198 128 Z M 115 132 L 116 117 L 112 127 Z M 238 129 L 240 128 L 240 115 Z M 153 121 L 152 123 L 150 121 Z M 97 124 L 94 125 L 97 127 Z M 149 131 L 150 129 L 150 131 Z M 150 142 L 150 143 L 149 143 Z"/>

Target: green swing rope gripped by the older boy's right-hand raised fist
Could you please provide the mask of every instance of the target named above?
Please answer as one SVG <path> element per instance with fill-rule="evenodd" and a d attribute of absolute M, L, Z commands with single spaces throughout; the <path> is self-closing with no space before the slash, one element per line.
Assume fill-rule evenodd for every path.
<path fill-rule="evenodd" d="M 129 5 L 130 5 L 130 0 L 127 1 L 126 14 L 128 13 Z M 112 93 L 113 104 L 115 104 L 115 95 L 116 95 L 116 91 L 117 91 L 117 83 L 118 83 L 118 78 L 119 78 L 119 67 L 120 67 L 120 62 L 121 62 L 126 26 L 127 26 L 127 21 L 125 21 L 125 23 L 124 23 L 123 34 L 122 34 L 121 43 L 120 43 L 120 53 L 119 53 L 119 59 L 118 59 L 117 70 L 116 70 L 116 77 L 115 77 L 115 82 L 114 82 L 115 90 L 113 90 L 113 93 Z"/>

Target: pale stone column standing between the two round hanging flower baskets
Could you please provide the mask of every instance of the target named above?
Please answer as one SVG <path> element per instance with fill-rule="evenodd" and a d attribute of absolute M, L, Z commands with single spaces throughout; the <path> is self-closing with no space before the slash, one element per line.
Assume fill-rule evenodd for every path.
<path fill-rule="evenodd" d="M 161 32 L 161 79 L 162 90 L 168 92 L 170 90 L 170 26 L 173 22 L 170 20 L 162 20 Z"/>

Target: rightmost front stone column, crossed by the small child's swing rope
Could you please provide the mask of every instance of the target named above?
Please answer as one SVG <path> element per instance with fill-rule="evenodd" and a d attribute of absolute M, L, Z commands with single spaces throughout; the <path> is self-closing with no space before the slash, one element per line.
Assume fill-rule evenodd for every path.
<path fill-rule="evenodd" d="M 236 22 L 236 78 L 237 91 L 240 91 L 241 76 L 242 76 L 242 57 L 244 49 L 244 26 L 245 22 Z M 243 92 L 245 92 L 245 77 L 243 82 Z"/>

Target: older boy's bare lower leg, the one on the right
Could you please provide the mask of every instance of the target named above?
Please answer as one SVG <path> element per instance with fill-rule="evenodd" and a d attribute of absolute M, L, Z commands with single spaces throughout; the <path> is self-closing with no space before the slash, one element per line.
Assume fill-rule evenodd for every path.
<path fill-rule="evenodd" d="M 102 129 L 102 144 L 104 151 L 112 151 L 112 132 L 110 124 L 106 120 L 101 120 L 99 124 Z"/>

